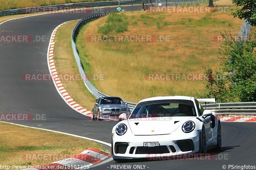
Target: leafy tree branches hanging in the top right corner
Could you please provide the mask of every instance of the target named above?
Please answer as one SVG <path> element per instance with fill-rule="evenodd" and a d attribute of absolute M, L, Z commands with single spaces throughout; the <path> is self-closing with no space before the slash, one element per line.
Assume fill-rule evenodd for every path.
<path fill-rule="evenodd" d="M 231 14 L 240 19 L 246 19 L 252 26 L 256 26 L 256 0 L 232 0 L 233 4 L 242 7 Z"/>

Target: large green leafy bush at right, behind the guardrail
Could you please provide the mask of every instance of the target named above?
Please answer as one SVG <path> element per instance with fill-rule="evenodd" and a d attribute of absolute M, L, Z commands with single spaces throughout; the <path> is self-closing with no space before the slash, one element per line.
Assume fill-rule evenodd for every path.
<path fill-rule="evenodd" d="M 220 71 L 214 78 L 211 69 L 205 71 L 207 97 L 217 96 L 220 102 L 256 101 L 256 41 L 236 39 L 226 32 L 221 35 Z"/>

